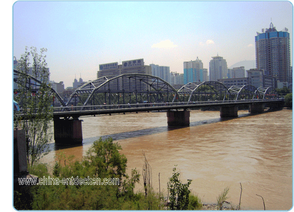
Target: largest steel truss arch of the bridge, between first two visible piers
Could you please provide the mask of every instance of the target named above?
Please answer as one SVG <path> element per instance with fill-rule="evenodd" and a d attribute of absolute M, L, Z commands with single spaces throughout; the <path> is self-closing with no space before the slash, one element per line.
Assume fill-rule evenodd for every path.
<path fill-rule="evenodd" d="M 66 102 L 76 98 L 83 106 L 167 103 L 180 101 L 178 92 L 163 79 L 140 73 L 103 76 L 76 89 Z M 75 104 L 76 105 L 76 104 Z"/>

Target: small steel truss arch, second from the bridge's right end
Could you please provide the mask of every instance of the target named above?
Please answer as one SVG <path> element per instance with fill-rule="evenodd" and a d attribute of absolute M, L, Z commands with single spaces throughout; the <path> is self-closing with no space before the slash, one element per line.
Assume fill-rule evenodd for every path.
<path fill-rule="evenodd" d="M 229 88 L 231 100 L 259 99 L 260 93 L 253 85 L 233 85 Z"/>

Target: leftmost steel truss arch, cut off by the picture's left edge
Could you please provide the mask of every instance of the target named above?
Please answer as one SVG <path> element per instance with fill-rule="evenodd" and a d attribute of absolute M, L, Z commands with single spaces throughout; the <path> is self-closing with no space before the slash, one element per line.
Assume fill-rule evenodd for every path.
<path fill-rule="evenodd" d="M 34 86 L 34 89 L 33 90 L 35 90 L 35 92 L 37 91 L 37 90 L 39 90 L 39 87 L 40 87 L 40 85 L 41 85 L 41 81 L 40 80 L 38 80 L 38 79 L 36 79 L 36 78 L 34 78 L 33 76 L 31 76 L 30 74 L 27 74 L 27 73 L 23 73 L 23 72 L 20 72 L 20 71 L 17 71 L 17 70 L 13 70 L 13 82 L 15 82 L 15 83 L 19 83 L 18 82 L 18 76 L 20 75 L 20 74 L 24 74 L 28 79 L 29 79 L 29 82 L 27 83 L 27 85 L 26 85 L 26 87 L 27 87 L 27 89 L 29 89 L 31 86 Z M 46 85 L 48 88 L 50 88 L 50 90 L 51 90 L 51 95 L 53 94 L 53 96 L 54 97 L 56 97 L 59 101 L 60 101 L 60 103 L 63 105 L 63 106 L 65 106 L 65 103 L 64 103 L 64 101 L 63 101 L 63 99 L 61 98 L 61 96 L 51 87 L 51 86 L 49 86 L 49 85 Z M 17 89 L 16 89 L 17 90 Z"/>

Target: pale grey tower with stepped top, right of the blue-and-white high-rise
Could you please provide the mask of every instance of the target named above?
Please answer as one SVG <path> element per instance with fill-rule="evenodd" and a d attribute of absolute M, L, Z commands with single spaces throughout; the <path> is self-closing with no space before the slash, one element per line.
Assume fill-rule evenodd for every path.
<path fill-rule="evenodd" d="M 212 57 L 212 60 L 209 62 L 209 80 L 218 81 L 218 79 L 226 79 L 227 77 L 227 61 L 219 55 Z"/>

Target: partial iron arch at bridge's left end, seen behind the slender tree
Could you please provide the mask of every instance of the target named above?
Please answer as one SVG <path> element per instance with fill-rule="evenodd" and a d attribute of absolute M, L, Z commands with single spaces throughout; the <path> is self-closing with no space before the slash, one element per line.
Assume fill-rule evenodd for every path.
<path fill-rule="evenodd" d="M 33 76 L 31 76 L 30 74 L 27 73 L 23 73 L 17 70 L 13 70 L 13 82 L 14 84 L 14 88 L 13 88 L 13 92 L 14 94 L 17 95 L 18 93 L 18 84 L 20 83 L 18 78 L 20 76 L 20 74 L 22 74 L 24 76 L 24 78 L 26 79 L 26 88 L 27 90 L 31 90 L 33 93 L 37 93 L 38 90 L 40 89 L 40 85 L 41 85 L 41 81 L 34 78 Z M 47 85 L 47 87 L 50 88 L 50 96 L 52 96 L 52 102 L 54 103 L 54 98 L 56 97 L 63 106 L 65 106 L 65 103 L 63 101 L 63 99 L 61 98 L 61 96 L 49 85 Z M 21 104 L 21 103 L 20 103 Z"/>

